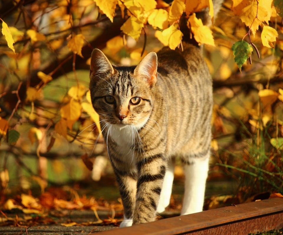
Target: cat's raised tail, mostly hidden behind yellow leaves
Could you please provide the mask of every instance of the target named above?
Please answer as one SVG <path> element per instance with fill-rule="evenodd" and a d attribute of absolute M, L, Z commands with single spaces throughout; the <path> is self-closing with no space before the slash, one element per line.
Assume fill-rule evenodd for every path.
<path fill-rule="evenodd" d="M 221 9 L 223 1 L 224 0 L 212 0 L 213 11 L 214 11 L 214 19 L 217 17 L 217 14 Z M 197 12 L 196 17 L 198 19 L 201 19 L 201 21 L 203 22 L 203 25 L 206 25 L 206 26 L 212 25 L 212 21 L 211 21 L 210 15 L 209 15 L 209 8 L 208 7 L 202 9 L 200 12 Z M 182 33 L 184 34 L 182 41 L 187 41 L 187 42 L 193 43 L 192 42 L 193 39 L 192 39 L 192 36 L 191 36 L 190 29 L 187 27 L 187 17 L 185 16 L 185 13 L 180 19 L 180 29 L 181 29 Z"/>

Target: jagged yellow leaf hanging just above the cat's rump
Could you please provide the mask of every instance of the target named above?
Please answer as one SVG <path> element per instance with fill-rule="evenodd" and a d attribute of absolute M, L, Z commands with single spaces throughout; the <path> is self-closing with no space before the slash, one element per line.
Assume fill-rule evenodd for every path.
<path fill-rule="evenodd" d="M 204 43 L 206 45 L 215 46 L 212 31 L 208 26 L 203 25 L 201 19 L 196 18 L 195 13 L 189 17 L 187 24 L 190 25 L 195 41 L 200 44 Z"/>

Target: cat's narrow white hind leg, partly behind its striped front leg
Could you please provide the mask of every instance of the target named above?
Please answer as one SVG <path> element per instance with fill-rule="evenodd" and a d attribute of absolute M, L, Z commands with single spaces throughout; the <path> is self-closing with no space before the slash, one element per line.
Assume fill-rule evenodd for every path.
<path fill-rule="evenodd" d="M 172 192 L 172 184 L 174 179 L 175 159 L 168 162 L 167 170 L 161 189 L 160 199 L 157 206 L 157 213 L 164 212 L 165 208 L 170 204 Z"/>

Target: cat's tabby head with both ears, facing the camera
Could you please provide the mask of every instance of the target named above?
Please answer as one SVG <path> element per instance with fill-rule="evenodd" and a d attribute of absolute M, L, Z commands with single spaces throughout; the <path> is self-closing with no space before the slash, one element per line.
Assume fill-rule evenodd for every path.
<path fill-rule="evenodd" d="M 154 103 L 157 55 L 147 54 L 137 66 L 113 66 L 102 51 L 91 54 L 91 101 L 101 120 L 141 128 Z"/>

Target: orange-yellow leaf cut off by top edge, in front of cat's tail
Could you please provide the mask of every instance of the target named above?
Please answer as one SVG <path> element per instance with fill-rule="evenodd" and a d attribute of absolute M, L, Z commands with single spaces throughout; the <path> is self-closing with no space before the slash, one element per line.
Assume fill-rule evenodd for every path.
<path fill-rule="evenodd" d="M 209 15 L 213 19 L 213 3 L 212 0 L 186 0 L 186 9 L 185 12 L 187 16 L 192 13 L 199 12 L 202 9 L 209 7 Z"/>

